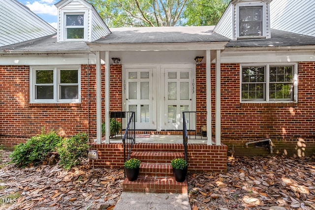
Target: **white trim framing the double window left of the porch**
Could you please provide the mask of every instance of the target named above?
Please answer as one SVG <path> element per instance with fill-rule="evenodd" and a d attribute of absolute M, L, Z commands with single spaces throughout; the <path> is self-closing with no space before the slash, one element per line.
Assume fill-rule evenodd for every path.
<path fill-rule="evenodd" d="M 54 71 L 54 99 L 35 99 L 36 70 Z M 60 99 L 60 70 L 78 70 L 78 99 Z M 81 102 L 81 68 L 78 65 L 66 66 L 30 66 L 30 103 L 80 103 Z"/>

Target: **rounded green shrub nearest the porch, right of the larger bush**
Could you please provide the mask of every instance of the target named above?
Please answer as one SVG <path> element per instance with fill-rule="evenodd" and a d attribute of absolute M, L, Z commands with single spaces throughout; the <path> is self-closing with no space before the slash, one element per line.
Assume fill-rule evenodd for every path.
<path fill-rule="evenodd" d="M 68 139 L 63 139 L 59 144 L 59 164 L 64 169 L 70 169 L 72 166 L 78 165 L 87 157 L 88 134 L 79 133 Z"/>

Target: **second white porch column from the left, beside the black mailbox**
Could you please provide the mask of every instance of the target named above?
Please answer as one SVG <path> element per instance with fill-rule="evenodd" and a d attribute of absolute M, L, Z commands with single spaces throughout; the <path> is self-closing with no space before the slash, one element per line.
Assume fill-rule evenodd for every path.
<path fill-rule="evenodd" d="M 109 51 L 105 52 L 105 143 L 110 143 L 109 140 L 109 90 L 110 87 L 110 63 Z"/>

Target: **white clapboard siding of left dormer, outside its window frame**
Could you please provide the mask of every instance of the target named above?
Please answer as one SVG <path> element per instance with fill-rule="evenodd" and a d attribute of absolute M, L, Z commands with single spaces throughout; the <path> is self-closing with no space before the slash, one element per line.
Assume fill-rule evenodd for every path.
<path fill-rule="evenodd" d="M 100 18 L 99 14 L 95 10 L 95 8 L 85 0 L 61 0 L 57 4 L 55 4 L 58 8 L 58 40 L 62 40 L 63 34 L 63 25 L 62 23 L 62 11 L 87 11 L 88 15 L 88 37 L 87 41 L 95 41 L 96 39 L 101 38 L 102 36 L 106 36 L 110 33 L 110 30 L 104 23 L 104 21 Z"/>

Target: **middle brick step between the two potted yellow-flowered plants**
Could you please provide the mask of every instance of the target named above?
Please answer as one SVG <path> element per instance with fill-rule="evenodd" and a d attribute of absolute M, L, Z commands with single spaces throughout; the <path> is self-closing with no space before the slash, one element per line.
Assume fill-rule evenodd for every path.
<path fill-rule="evenodd" d="M 139 176 L 142 177 L 173 177 L 170 163 L 141 163 Z"/>

